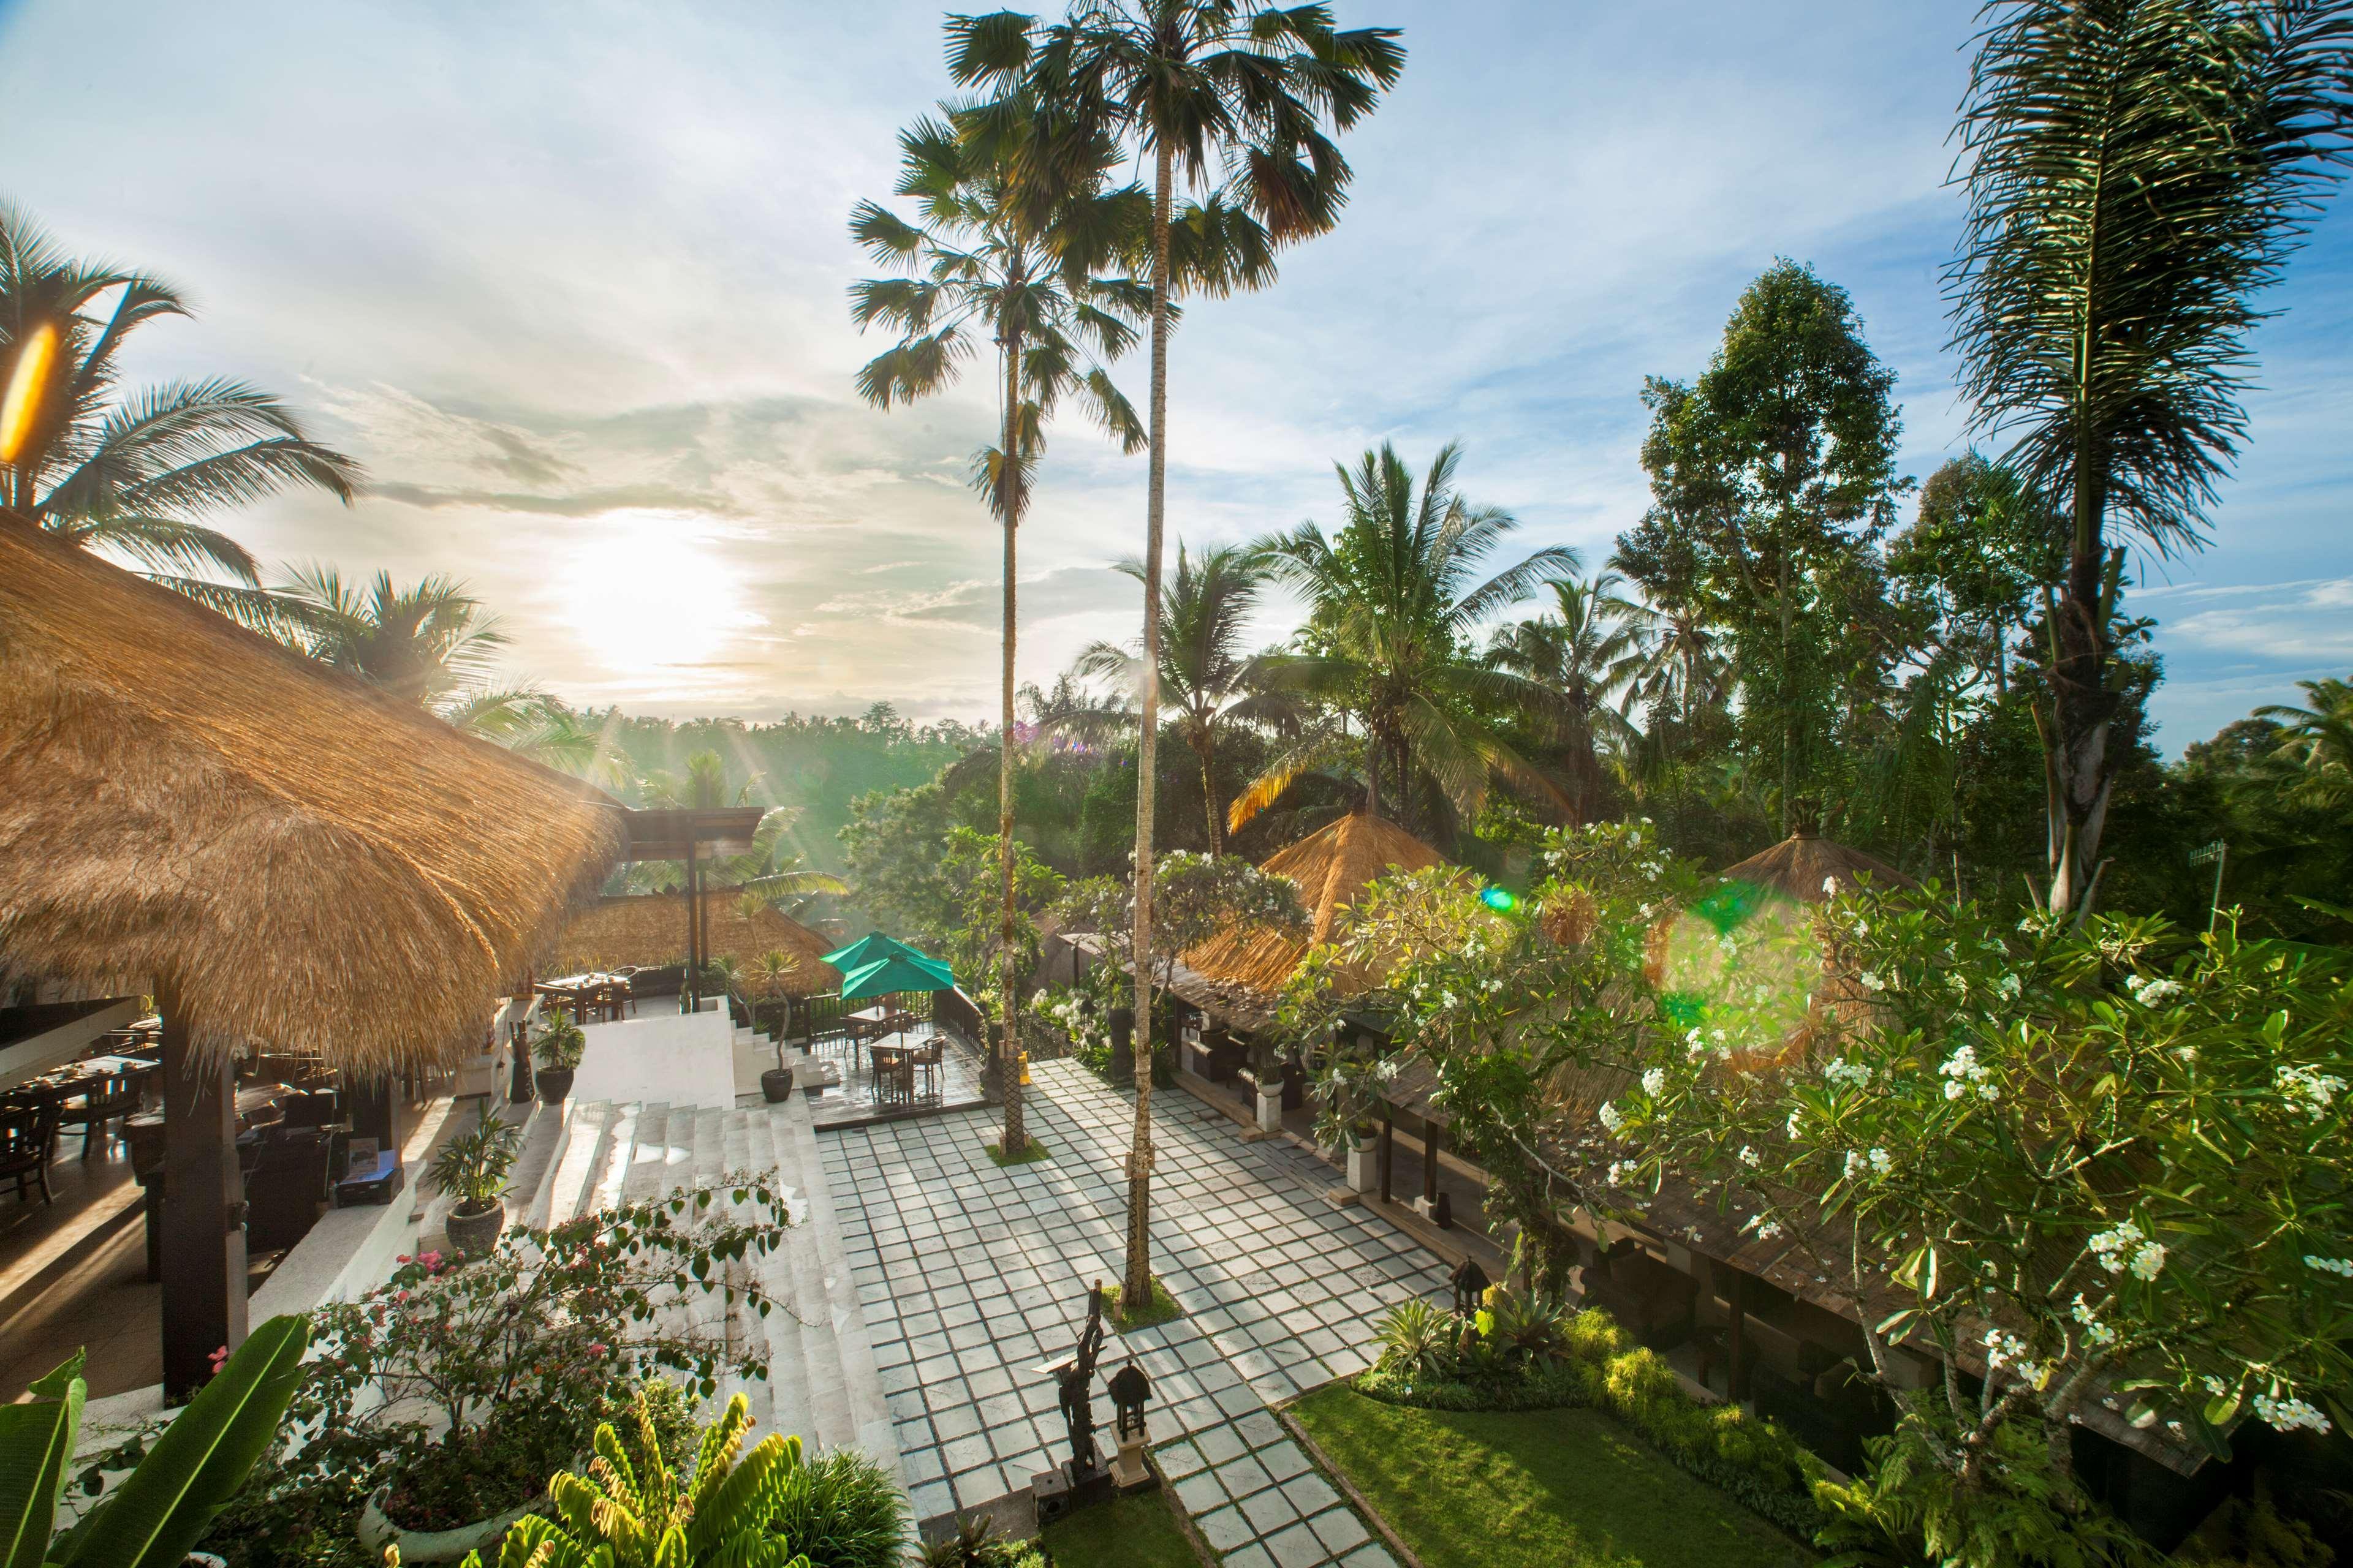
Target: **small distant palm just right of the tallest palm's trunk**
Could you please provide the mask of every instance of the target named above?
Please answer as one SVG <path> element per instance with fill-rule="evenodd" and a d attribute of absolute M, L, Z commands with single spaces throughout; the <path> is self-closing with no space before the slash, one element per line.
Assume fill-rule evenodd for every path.
<path fill-rule="evenodd" d="M 1118 562 L 1118 571 L 1144 581 L 1144 562 Z M 1176 710 L 1176 731 L 1200 759 L 1200 795 L 1209 811 L 1209 853 L 1226 853 L 1226 809 L 1217 799 L 1217 743 L 1226 726 L 1266 705 L 1259 661 L 1242 632 L 1266 588 L 1266 562 L 1245 545 L 1217 545 L 1200 559 L 1176 543 L 1176 578 L 1160 599 L 1160 691 Z M 1080 677 L 1111 677 L 1139 686 L 1144 661 L 1108 642 L 1078 656 Z"/>

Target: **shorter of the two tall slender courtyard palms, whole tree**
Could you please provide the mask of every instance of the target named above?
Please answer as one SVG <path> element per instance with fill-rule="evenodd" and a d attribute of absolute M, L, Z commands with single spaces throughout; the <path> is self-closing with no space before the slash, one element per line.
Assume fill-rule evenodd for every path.
<path fill-rule="evenodd" d="M 849 233 L 880 266 L 901 277 L 852 287 L 859 327 L 887 324 L 899 343 L 859 371 L 859 393 L 875 407 L 913 402 L 955 381 L 974 339 L 998 348 L 1000 435 L 981 451 L 974 484 L 1005 536 L 1005 635 L 1000 644 L 998 879 L 1002 1018 L 998 1077 L 1005 1086 L 1005 1150 L 1028 1147 L 1021 1112 L 1016 1030 L 1021 987 L 1014 973 L 1014 536 L 1028 512 L 1031 475 L 1045 451 L 1047 416 L 1078 397 L 1125 451 L 1144 444 L 1144 425 L 1111 383 L 1101 360 L 1134 343 L 1146 289 L 1108 268 L 1134 254 L 1144 233 L 1144 193 L 1113 188 L 1118 148 L 1094 136 L 1087 167 L 1049 195 L 1012 179 L 1012 158 L 1038 134 L 1035 103 L 993 125 L 922 120 L 899 136 L 899 195 L 915 197 L 908 223 L 878 202 L 859 202 Z"/>

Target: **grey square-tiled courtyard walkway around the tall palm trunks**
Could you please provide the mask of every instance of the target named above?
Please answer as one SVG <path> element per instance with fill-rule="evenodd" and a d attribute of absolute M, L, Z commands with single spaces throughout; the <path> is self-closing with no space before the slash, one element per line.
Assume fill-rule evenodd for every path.
<path fill-rule="evenodd" d="M 1120 1276 L 1132 1103 L 1078 1063 L 1033 1077 L 1052 1161 L 1000 1171 L 981 1147 L 995 1112 L 821 1138 L 918 1516 L 1002 1497 L 1059 1458 L 1040 1366 L 1068 1356 L 1089 1281 Z M 1151 1373 L 1162 1465 L 1228 1566 L 1381 1568 L 1266 1406 L 1362 1371 L 1388 1307 L 1440 1295 L 1445 1269 L 1327 1206 L 1332 1171 L 1289 1143 L 1245 1145 L 1181 1093 L 1153 1105 L 1153 1255 L 1186 1316 L 1108 1340 L 1104 1373 L 1125 1356 Z"/>

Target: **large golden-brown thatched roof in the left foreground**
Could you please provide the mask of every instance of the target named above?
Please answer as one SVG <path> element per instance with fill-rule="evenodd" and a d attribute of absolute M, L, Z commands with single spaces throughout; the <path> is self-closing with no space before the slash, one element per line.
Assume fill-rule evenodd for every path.
<path fill-rule="evenodd" d="M 480 1044 L 621 837 L 598 790 L 0 515 L 7 969 L 381 1072 Z"/>

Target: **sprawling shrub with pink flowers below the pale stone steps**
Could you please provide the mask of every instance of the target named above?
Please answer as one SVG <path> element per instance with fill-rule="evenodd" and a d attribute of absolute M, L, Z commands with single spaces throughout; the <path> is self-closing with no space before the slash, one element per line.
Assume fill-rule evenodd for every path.
<path fill-rule="evenodd" d="M 400 1258 L 381 1288 L 313 1314 L 318 1354 L 266 1486 L 289 1512 L 320 1495 L 348 1512 L 388 1486 L 386 1514 L 405 1528 L 536 1495 L 649 1373 L 678 1373 L 699 1396 L 725 1373 L 767 1373 L 762 1352 L 734 1349 L 725 1326 L 682 1307 L 706 1293 L 758 1316 L 784 1305 L 741 1265 L 786 1225 L 781 1194 L 746 1175 L 513 1232 L 464 1262 Z"/>

